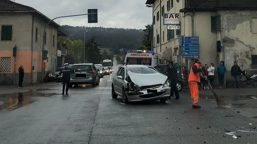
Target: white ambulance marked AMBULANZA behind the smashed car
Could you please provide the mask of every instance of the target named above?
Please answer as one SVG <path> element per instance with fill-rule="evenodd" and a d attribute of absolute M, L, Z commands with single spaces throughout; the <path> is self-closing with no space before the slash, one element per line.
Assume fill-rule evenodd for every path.
<path fill-rule="evenodd" d="M 149 50 L 128 50 L 125 51 L 127 65 L 149 65 L 156 66 L 161 63 L 160 55 Z"/>

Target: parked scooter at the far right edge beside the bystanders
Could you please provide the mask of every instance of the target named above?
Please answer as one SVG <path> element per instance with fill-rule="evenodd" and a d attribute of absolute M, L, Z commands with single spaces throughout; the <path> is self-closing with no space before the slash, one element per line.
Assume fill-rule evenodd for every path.
<path fill-rule="evenodd" d="M 252 76 L 248 76 L 246 73 L 246 70 L 242 70 L 241 76 L 239 77 L 240 79 L 240 85 L 252 85 L 253 87 L 256 86 L 256 81 L 257 81 L 257 74 L 254 74 Z"/>

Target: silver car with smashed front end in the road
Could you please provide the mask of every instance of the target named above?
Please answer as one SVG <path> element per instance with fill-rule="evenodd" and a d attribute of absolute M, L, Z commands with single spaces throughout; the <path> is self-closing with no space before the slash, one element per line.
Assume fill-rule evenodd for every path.
<path fill-rule="evenodd" d="M 152 66 L 121 66 L 113 77 L 111 96 L 123 98 L 123 103 L 142 100 L 160 100 L 165 103 L 170 96 L 170 83 L 167 76 Z"/>

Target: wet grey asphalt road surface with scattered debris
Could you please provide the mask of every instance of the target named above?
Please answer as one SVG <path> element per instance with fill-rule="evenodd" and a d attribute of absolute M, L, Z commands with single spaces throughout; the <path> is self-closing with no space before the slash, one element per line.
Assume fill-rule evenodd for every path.
<path fill-rule="evenodd" d="M 104 76 L 99 86 L 73 87 L 64 96 L 61 86 L 22 94 L 20 104 L 0 112 L 0 144 L 257 143 L 257 123 L 240 113 L 204 99 L 202 109 L 192 109 L 186 93 L 166 104 L 122 104 L 111 99 L 111 82 Z"/>

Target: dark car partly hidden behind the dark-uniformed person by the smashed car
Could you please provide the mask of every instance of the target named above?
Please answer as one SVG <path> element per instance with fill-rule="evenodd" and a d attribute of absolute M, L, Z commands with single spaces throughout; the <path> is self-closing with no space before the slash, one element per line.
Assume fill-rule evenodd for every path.
<path fill-rule="evenodd" d="M 177 89 L 178 91 L 181 91 L 183 87 L 185 86 L 185 81 L 184 81 L 184 74 L 183 74 L 183 68 L 180 65 L 174 65 L 177 69 L 177 77 L 178 77 L 178 82 L 177 82 Z M 157 66 L 154 66 L 154 68 L 162 74 L 167 75 L 166 70 L 168 68 L 168 64 L 159 64 Z"/>

